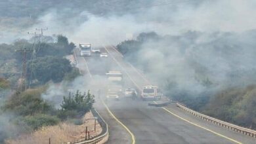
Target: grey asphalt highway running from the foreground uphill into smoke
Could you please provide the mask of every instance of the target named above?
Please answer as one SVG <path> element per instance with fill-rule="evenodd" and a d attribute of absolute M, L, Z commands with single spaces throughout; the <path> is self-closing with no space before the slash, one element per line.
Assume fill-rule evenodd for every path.
<path fill-rule="evenodd" d="M 111 46 L 102 48 L 108 52 L 108 58 L 98 56 L 77 58 L 79 67 L 92 77 L 104 79 L 104 71 L 120 70 L 124 74 L 125 85 L 140 90 L 150 82 Z M 84 60 L 83 60 L 84 59 Z M 88 69 L 87 69 L 88 68 Z M 103 84 L 103 83 L 102 83 Z M 148 101 L 121 98 L 114 101 L 100 96 L 110 111 L 135 135 L 136 143 L 256 143 L 256 139 L 228 130 L 190 115 L 175 105 L 166 107 L 175 115 L 167 113 L 161 107 L 148 106 Z M 131 143 L 131 135 L 109 113 L 99 98 L 95 107 L 110 126 L 108 143 Z M 195 126 L 194 124 L 198 125 Z M 206 130 L 205 130 L 206 129 Z"/>

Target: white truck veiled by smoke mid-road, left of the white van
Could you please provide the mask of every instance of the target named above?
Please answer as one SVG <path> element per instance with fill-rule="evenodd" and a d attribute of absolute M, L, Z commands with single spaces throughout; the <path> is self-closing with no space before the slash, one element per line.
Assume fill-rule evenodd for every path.
<path fill-rule="evenodd" d="M 109 71 L 106 76 L 108 78 L 106 98 L 119 99 L 123 95 L 123 74 L 120 71 Z"/>

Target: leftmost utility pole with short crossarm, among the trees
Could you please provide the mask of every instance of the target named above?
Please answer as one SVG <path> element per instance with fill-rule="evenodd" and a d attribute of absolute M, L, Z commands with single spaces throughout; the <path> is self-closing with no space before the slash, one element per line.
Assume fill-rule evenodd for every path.
<path fill-rule="evenodd" d="M 27 50 L 24 48 L 23 50 L 15 50 L 16 52 L 21 52 L 23 55 L 22 58 L 22 82 L 20 84 L 20 91 L 22 91 L 22 86 L 25 84 L 25 90 L 27 89 L 27 67 L 26 67 L 26 62 L 27 62 L 27 53 L 32 52 L 32 50 Z"/>

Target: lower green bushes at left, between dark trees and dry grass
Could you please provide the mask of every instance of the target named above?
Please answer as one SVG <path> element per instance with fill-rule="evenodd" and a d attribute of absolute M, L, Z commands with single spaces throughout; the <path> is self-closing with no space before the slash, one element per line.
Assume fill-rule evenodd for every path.
<path fill-rule="evenodd" d="M 16 92 L 1 107 L 3 113 L 11 113 L 16 116 L 9 122 L 22 130 L 22 134 L 29 134 L 42 127 L 54 126 L 66 120 L 73 124 L 82 124 L 81 118 L 90 111 L 95 103 L 94 96 L 90 92 L 81 93 L 77 90 L 75 94 L 64 96 L 60 109 L 56 109 L 52 101 L 41 98 L 41 94 L 45 90 L 47 90 L 47 86 Z M 3 143 L 4 139 L 13 137 L 6 135 L 1 138 L 1 143 Z"/>

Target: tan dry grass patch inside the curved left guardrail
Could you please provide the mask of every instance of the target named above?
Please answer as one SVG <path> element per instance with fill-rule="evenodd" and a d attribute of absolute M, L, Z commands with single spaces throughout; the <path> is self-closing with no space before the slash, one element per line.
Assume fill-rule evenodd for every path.
<path fill-rule="evenodd" d="M 91 113 L 87 113 L 83 117 L 83 124 L 74 125 L 67 122 L 58 124 L 57 126 L 46 126 L 37 130 L 30 135 L 20 135 L 17 139 L 9 139 L 7 144 L 48 144 L 49 137 L 51 137 L 51 143 L 67 143 L 68 141 L 76 141 L 77 139 L 85 138 L 85 126 L 87 126 L 90 136 L 100 134 L 102 128 L 100 124 L 96 122 L 96 131 L 94 131 L 95 120 L 88 120 L 93 118 Z"/>

